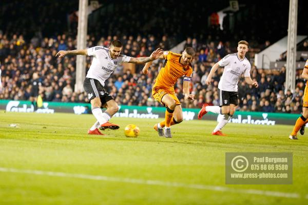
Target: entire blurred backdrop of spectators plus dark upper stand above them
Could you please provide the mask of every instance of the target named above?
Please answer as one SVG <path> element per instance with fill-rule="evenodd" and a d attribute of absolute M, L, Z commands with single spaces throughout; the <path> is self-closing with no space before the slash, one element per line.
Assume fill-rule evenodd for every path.
<path fill-rule="evenodd" d="M 195 94 L 196 100 L 190 103 L 184 101 L 183 79 L 179 79 L 175 90 L 183 107 L 201 108 L 203 103 L 218 105 L 218 82 L 223 69 L 216 72 L 211 85 L 205 85 L 205 79 L 211 66 L 225 55 L 237 52 L 237 42 L 245 39 L 250 44 L 246 57 L 252 64 L 251 76 L 258 81 L 259 88 L 248 86 L 242 77 L 238 84 L 237 109 L 301 112 L 305 88 L 305 81 L 301 77 L 302 70 L 297 70 L 295 92 L 285 93 L 284 67 L 265 70 L 254 66 L 255 53 L 286 35 L 288 4 L 268 3 L 279 7 L 280 11 L 285 11 L 281 12 L 286 13 L 284 15 L 276 13 L 279 9 L 273 12 L 268 5 L 262 7 L 263 3 L 247 6 L 245 12 L 239 12 L 236 18 L 232 13 L 227 13 L 221 25 L 217 13 L 213 11 L 228 6 L 226 1 L 216 3 L 213 7 L 210 4 L 215 1 L 202 3 L 209 4 L 205 6 L 199 2 L 183 3 L 172 10 L 170 8 L 177 4 L 173 0 L 167 3 L 143 0 L 116 2 L 118 3 L 109 3 L 107 10 L 94 11 L 93 15 L 89 16 L 91 23 L 88 26 L 87 47 L 108 47 L 112 40 L 119 39 L 124 45 L 123 54 L 140 57 L 149 56 L 158 47 L 170 50 L 186 40 L 183 49 L 190 46 L 197 51 L 192 61 L 194 72 L 190 83 L 190 92 Z M 35 4 L 37 6 L 33 8 Z M 46 6 L 48 10 L 45 9 Z M 14 9 L 17 7 L 23 9 Z M 209 7 L 211 9 L 207 10 Z M 185 9 L 187 12 L 180 12 Z M 259 13 L 260 9 L 262 15 Z M 55 57 L 59 50 L 76 49 L 76 10 L 78 1 L 46 1 L 40 4 L 39 1 L 30 0 L 0 3 L 0 99 L 28 100 L 33 73 L 36 73 L 41 82 L 39 93 L 44 101 L 87 101 L 86 93 L 74 92 L 76 56 L 63 59 Z M 299 15 L 302 12 L 303 10 L 299 9 Z M 55 17 L 58 14 L 60 15 Z M 273 19 L 266 20 L 268 18 Z M 230 24 L 232 19 L 236 20 Z M 299 19 L 299 24 L 302 20 Z M 277 24 L 280 21 L 284 24 Z M 300 28 L 299 32 L 305 29 L 308 29 L 307 25 Z M 304 40 L 298 50 L 308 51 L 308 42 Z M 277 60 L 284 60 L 284 57 L 282 54 Z M 86 71 L 90 67 L 91 59 L 87 56 Z M 156 61 L 147 75 L 141 72 L 143 65 L 132 71 L 119 67 L 106 82 L 106 90 L 119 105 L 161 106 L 152 98 L 151 89 L 162 63 Z"/>

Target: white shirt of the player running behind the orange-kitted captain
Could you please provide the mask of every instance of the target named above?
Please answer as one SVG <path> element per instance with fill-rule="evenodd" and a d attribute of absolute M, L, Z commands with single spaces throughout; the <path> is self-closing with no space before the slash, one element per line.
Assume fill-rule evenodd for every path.
<path fill-rule="evenodd" d="M 251 64 L 244 58 L 240 60 L 237 53 L 226 55 L 218 61 L 220 67 L 224 67 L 218 88 L 223 91 L 237 92 L 241 74 L 250 77 Z"/>

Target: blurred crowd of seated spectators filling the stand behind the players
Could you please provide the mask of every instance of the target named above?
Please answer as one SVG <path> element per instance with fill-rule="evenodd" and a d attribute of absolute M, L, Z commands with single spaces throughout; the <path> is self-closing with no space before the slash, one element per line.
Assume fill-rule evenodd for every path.
<path fill-rule="evenodd" d="M 98 40 L 93 36 L 87 37 L 87 47 L 95 45 L 108 47 L 112 39 L 117 36 L 102 37 Z M 149 56 L 153 49 L 160 47 L 170 49 L 174 44 L 172 39 L 163 35 L 161 39 L 155 36 L 121 36 L 119 38 L 124 47 L 123 53 L 129 56 Z M 196 100 L 186 103 L 182 95 L 182 80 L 175 85 L 176 93 L 186 108 L 200 108 L 203 103 L 218 105 L 218 82 L 223 69 L 219 69 L 213 77 L 212 84 L 205 85 L 205 79 L 214 65 L 221 57 L 236 52 L 229 42 L 216 42 L 210 36 L 205 42 L 198 42 L 196 38 L 188 37 L 186 46 L 193 47 L 196 57 L 192 62 L 194 72 L 191 77 L 191 92 Z M 37 38 L 34 36 L 26 42 L 23 35 L 7 36 L 0 33 L 0 59 L 3 62 L 2 92 L 0 99 L 28 100 L 31 91 L 33 73 L 39 75 L 42 86 L 39 93 L 44 101 L 86 102 L 86 93 L 74 92 L 75 84 L 75 56 L 67 56 L 63 60 L 55 58 L 59 50 L 73 50 L 76 40 L 71 36 L 58 35 L 55 38 Z M 254 48 L 249 53 L 254 55 Z M 249 57 L 247 56 L 247 57 Z M 91 57 L 87 56 L 87 70 Z M 143 75 L 143 66 L 137 66 L 136 72 L 119 67 L 106 83 L 106 88 L 119 105 L 160 106 L 151 96 L 151 88 L 162 61 L 153 64 L 147 75 Z M 284 94 L 285 68 L 279 71 L 257 69 L 252 66 L 251 75 L 259 83 L 255 89 L 245 83 L 244 78 L 239 81 L 239 106 L 241 111 L 260 112 L 286 112 L 300 113 L 301 100 L 305 87 L 304 81 L 298 71 L 296 78 L 296 91 Z"/>

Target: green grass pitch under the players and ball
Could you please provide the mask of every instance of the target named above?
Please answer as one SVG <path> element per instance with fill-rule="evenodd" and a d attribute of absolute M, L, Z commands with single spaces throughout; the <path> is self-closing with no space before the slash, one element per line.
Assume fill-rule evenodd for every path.
<path fill-rule="evenodd" d="M 120 129 L 101 137 L 86 134 L 92 115 L 0 111 L 0 204 L 308 202 L 307 134 L 228 124 L 228 136 L 211 136 L 215 121 L 192 120 L 167 139 L 153 130 L 160 120 L 112 118 Z M 128 124 L 139 137 L 124 136 Z M 225 185 L 226 152 L 293 152 L 293 185 Z"/>

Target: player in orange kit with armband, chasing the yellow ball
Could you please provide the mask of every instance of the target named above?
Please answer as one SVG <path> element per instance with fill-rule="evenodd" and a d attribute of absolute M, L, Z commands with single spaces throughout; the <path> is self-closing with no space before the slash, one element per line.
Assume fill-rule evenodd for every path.
<path fill-rule="evenodd" d="M 181 103 L 174 89 L 180 77 L 184 76 L 184 99 L 194 100 L 194 95 L 189 94 L 189 82 L 192 74 L 190 62 L 194 56 L 195 51 L 191 47 L 187 47 L 182 54 L 165 51 L 159 56 L 160 59 L 165 59 L 165 61 L 152 88 L 153 97 L 166 107 L 165 120 L 154 126 L 159 136 L 172 137 L 170 126 L 183 121 Z M 146 63 L 142 69 L 144 74 L 147 74 L 150 65 L 151 62 Z"/>

